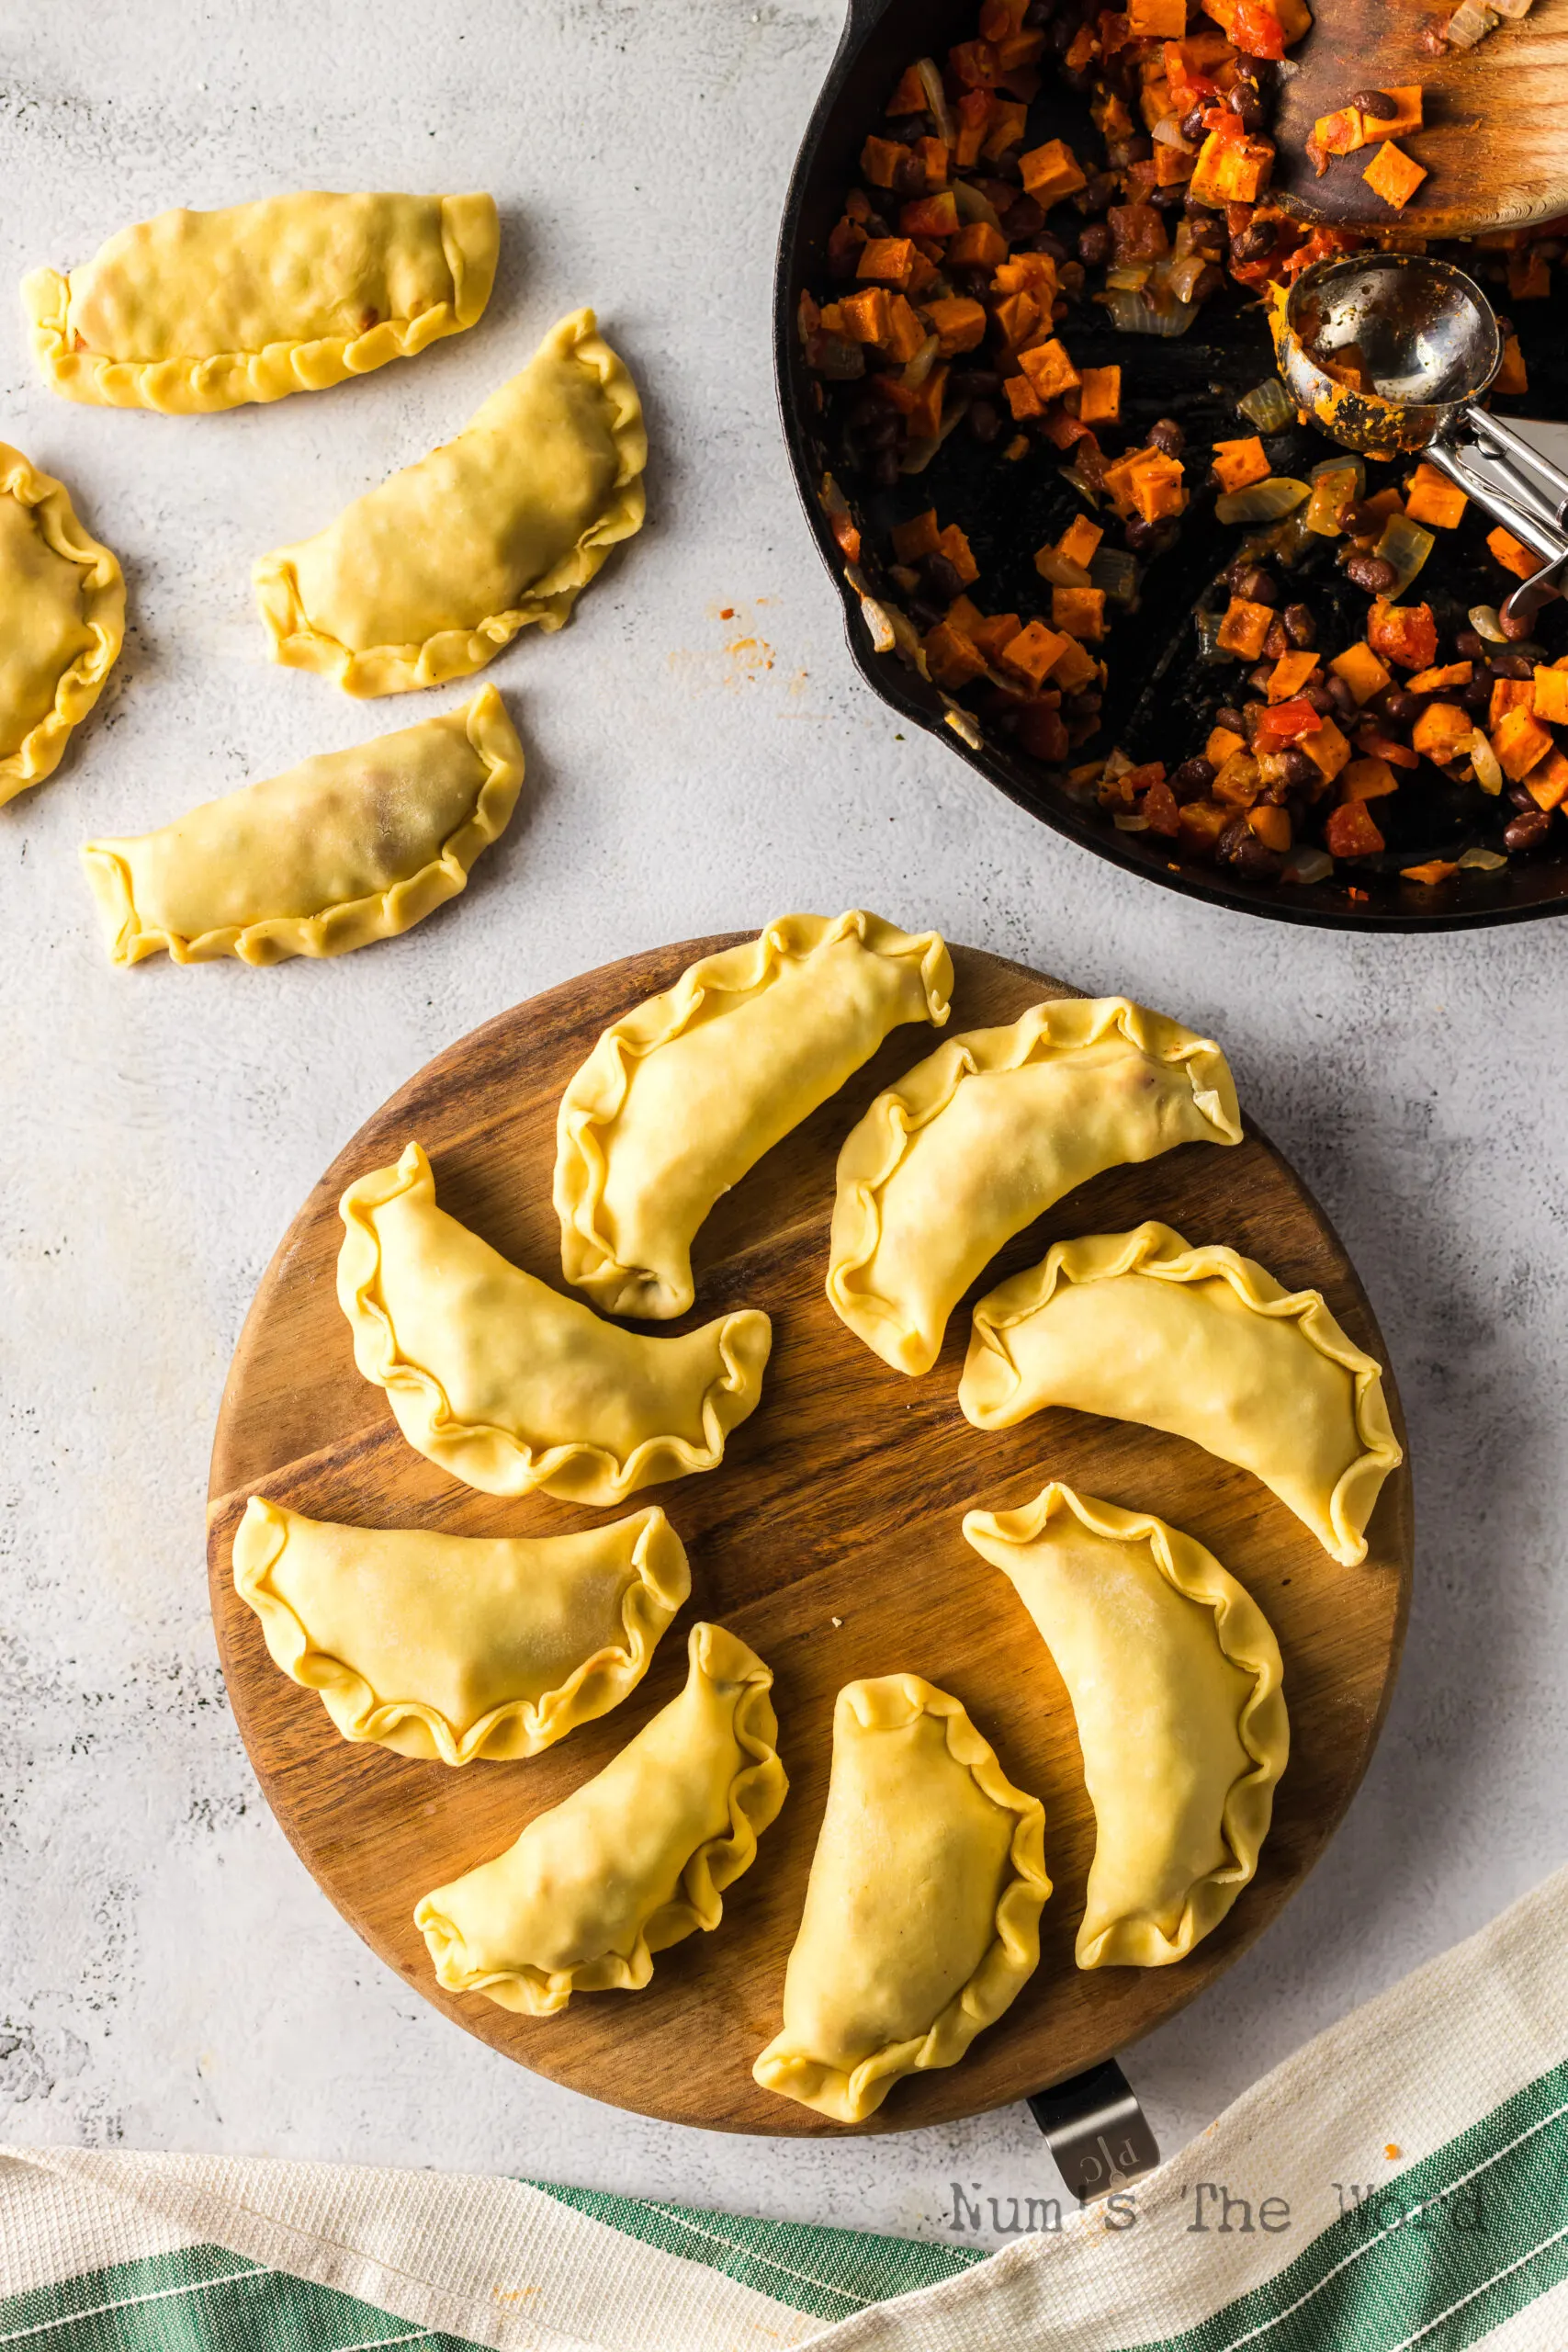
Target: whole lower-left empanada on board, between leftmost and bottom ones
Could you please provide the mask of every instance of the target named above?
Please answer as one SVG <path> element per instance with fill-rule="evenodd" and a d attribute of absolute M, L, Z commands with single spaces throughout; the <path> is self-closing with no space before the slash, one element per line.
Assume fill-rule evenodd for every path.
<path fill-rule="evenodd" d="M 447 1992 L 552 2018 L 574 1992 L 639 1992 L 654 1952 L 719 1924 L 790 1783 L 762 1658 L 722 1625 L 693 1625 L 689 1656 L 686 1689 L 602 1773 L 418 1903 Z"/>

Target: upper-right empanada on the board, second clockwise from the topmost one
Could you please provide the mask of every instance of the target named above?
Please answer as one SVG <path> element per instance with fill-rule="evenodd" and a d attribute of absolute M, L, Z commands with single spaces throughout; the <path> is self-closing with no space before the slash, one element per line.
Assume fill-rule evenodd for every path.
<path fill-rule="evenodd" d="M 931 1371 L 976 1275 L 1074 1185 L 1175 1143 L 1239 1141 L 1208 1037 L 1128 997 L 1032 1004 L 947 1037 L 849 1134 L 827 1298 L 893 1371 Z"/>

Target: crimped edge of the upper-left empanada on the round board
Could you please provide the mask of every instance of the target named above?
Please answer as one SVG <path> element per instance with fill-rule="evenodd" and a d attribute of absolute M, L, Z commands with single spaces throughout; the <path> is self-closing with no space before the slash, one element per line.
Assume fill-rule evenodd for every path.
<path fill-rule="evenodd" d="M 752 1411 L 762 1392 L 762 1374 L 773 1345 L 771 1319 L 759 1308 L 736 1308 L 719 1319 L 722 1376 L 710 1381 L 703 1392 L 703 1446 L 693 1446 L 689 1437 L 661 1432 L 658 1437 L 644 1437 L 621 1463 L 604 1446 L 578 1439 L 534 1454 L 512 1430 L 458 1421 L 442 1383 L 421 1364 L 411 1364 L 400 1355 L 388 1310 L 367 1296 L 381 1272 L 381 1242 L 376 1240 L 369 1211 L 386 1207 L 402 1192 L 411 1192 L 418 1183 L 428 1183 L 430 1197 L 435 1197 L 435 1178 L 423 1148 L 407 1143 L 395 1167 L 369 1169 L 369 1174 L 357 1176 L 343 1192 L 339 1202 L 343 1218 L 339 1305 L 348 1317 L 355 1341 L 355 1364 L 364 1378 L 383 1388 L 388 1397 L 402 1392 L 423 1402 L 430 1421 L 430 1461 L 465 1484 L 480 1486 L 480 1479 L 470 1477 L 458 1463 L 470 1449 L 498 1446 L 520 1465 L 517 1482 L 508 1486 L 484 1484 L 480 1486 L 482 1494 L 522 1496 L 536 1486 L 545 1486 L 550 1494 L 609 1508 L 623 1503 L 639 1486 L 654 1486 L 665 1477 L 689 1477 L 696 1470 L 712 1470 L 724 1458 L 724 1439 Z M 569 1303 L 581 1305 L 578 1298 Z M 611 1324 L 609 1329 L 616 1327 Z M 748 1355 L 755 1352 L 757 1336 L 762 1336 L 762 1357 L 757 1364 L 750 1364 Z M 741 1406 L 733 1421 L 726 1421 L 722 1411 L 726 1397 L 733 1397 Z M 665 1461 L 670 1468 L 663 1468 Z M 578 1463 L 590 1465 L 592 1484 L 583 1482 L 576 1470 Z M 567 1482 L 562 1484 L 562 1479 Z"/>

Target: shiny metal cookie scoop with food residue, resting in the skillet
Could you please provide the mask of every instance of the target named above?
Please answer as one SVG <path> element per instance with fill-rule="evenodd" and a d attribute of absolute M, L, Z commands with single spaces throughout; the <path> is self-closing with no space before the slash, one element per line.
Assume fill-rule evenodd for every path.
<path fill-rule="evenodd" d="M 1269 327 L 1286 390 L 1324 433 L 1366 456 L 1420 449 L 1540 557 L 1502 607 L 1528 619 L 1568 567 L 1568 475 L 1476 407 L 1502 336 L 1474 278 L 1425 254 L 1319 261 L 1274 287 Z"/>

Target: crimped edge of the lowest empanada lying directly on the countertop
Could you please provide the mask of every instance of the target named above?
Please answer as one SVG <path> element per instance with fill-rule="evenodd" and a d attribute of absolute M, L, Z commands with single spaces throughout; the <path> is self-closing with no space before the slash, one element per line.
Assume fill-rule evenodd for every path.
<path fill-rule="evenodd" d="M 522 790 L 524 755 L 505 703 L 494 684 L 480 687 L 463 713 L 468 741 L 484 764 L 473 809 L 449 833 L 435 858 L 428 858 L 402 882 L 367 898 L 341 898 L 315 915 L 266 915 L 261 922 L 221 924 L 183 938 L 160 924 L 143 924 L 125 858 L 113 842 L 85 842 L 82 870 L 99 901 L 108 957 L 129 969 L 148 955 L 167 955 L 174 964 L 209 964 L 233 955 L 242 964 L 270 967 L 292 955 L 331 957 L 350 948 L 371 948 L 378 938 L 402 938 L 437 906 L 468 889 L 480 854 L 505 833 Z M 376 736 L 369 739 L 374 743 Z M 362 746 L 362 748 L 369 748 Z M 240 786 L 240 790 L 247 790 Z"/>

